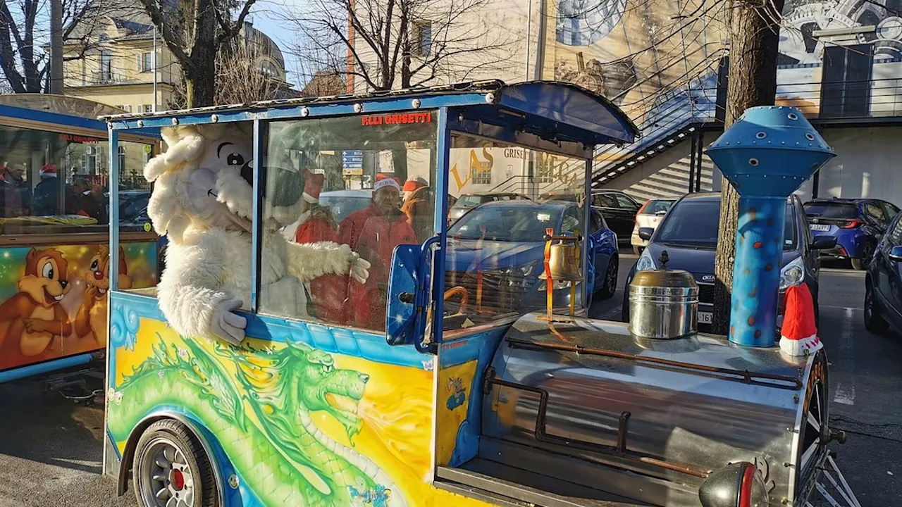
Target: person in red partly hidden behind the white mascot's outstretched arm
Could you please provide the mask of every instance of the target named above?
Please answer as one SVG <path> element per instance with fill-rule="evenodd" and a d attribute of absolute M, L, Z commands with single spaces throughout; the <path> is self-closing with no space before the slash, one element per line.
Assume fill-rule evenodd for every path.
<path fill-rule="evenodd" d="M 338 226 L 332 210 L 319 204 L 319 192 L 323 189 L 325 176 L 304 170 L 304 193 L 307 211 L 300 217 L 300 225 L 294 233 L 295 243 L 338 242 Z M 347 277 L 339 274 L 324 274 L 309 283 L 310 300 L 313 311 L 310 315 L 342 324 L 347 302 Z"/>

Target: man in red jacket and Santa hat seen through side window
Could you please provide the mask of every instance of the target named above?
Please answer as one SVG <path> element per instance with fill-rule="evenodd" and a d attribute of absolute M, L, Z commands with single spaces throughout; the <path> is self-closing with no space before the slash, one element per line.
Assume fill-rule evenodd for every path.
<path fill-rule="evenodd" d="M 376 175 L 369 207 L 345 217 L 338 228 L 338 243 L 369 261 L 366 283 L 350 279 L 345 322 L 354 327 L 385 330 L 385 301 L 388 293 L 391 255 L 399 244 L 417 244 L 407 216 L 398 207 L 400 183 L 384 174 Z"/>

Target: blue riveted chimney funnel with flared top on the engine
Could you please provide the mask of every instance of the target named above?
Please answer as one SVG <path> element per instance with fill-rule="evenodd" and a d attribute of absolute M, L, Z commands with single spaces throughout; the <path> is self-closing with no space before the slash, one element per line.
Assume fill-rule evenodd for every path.
<path fill-rule="evenodd" d="M 739 192 L 730 341 L 773 346 L 787 198 L 835 156 L 795 107 L 750 107 L 706 151 Z"/>

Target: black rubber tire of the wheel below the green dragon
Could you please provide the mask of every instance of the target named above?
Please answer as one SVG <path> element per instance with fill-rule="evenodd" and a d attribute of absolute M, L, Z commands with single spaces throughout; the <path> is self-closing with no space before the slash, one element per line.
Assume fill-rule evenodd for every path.
<path fill-rule="evenodd" d="M 134 448 L 132 460 L 132 485 L 134 497 L 141 507 L 156 507 L 143 502 L 141 492 L 141 474 L 147 473 L 142 469 L 143 454 L 148 445 L 156 438 L 167 438 L 179 448 L 188 461 L 191 475 L 195 477 L 197 491 L 194 495 L 192 507 L 220 507 L 219 492 L 216 487 L 216 472 L 210 464 L 210 459 L 200 441 L 184 424 L 174 419 L 161 419 L 144 430 L 138 445 Z"/>

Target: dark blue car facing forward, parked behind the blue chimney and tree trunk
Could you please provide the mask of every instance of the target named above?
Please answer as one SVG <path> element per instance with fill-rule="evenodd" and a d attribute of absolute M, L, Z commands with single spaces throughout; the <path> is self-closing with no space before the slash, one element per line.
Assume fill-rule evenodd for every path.
<path fill-rule="evenodd" d="M 721 194 L 704 192 L 689 194 L 674 203 L 657 230 L 642 227 L 640 236 L 649 244 L 633 265 L 627 277 L 623 295 L 623 320 L 630 318 L 630 282 L 636 272 L 658 268 L 661 252 L 667 250 L 667 268 L 685 270 L 698 283 L 698 324 L 709 330 L 713 318 L 714 253 L 717 248 L 718 223 L 721 213 Z M 832 248 L 832 236 L 813 237 L 805 221 L 805 208 L 796 196 L 787 199 L 783 236 L 783 258 L 780 270 L 780 293 L 797 283 L 807 283 L 815 300 L 820 261 L 818 251 Z M 779 313 L 782 315 L 782 296 Z"/>

